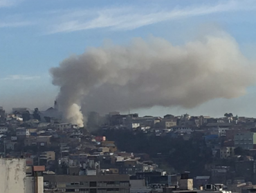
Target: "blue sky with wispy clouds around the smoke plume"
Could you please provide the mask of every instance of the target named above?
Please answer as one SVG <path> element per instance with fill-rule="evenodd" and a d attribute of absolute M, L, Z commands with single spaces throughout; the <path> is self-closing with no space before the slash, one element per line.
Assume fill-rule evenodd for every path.
<path fill-rule="evenodd" d="M 255 18 L 252 0 L 0 0 L 0 105 L 52 105 L 58 88 L 51 84 L 49 68 L 108 40 L 122 44 L 154 35 L 180 45 L 220 28 L 255 60 Z M 256 116 L 255 92 L 255 87 L 248 88 L 239 99 L 216 99 L 192 110 L 156 107 L 136 112 Z"/>

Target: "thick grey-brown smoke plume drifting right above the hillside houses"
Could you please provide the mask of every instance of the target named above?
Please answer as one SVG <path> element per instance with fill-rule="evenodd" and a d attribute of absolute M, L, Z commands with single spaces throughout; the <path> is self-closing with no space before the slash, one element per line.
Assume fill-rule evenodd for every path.
<path fill-rule="evenodd" d="M 182 46 L 151 37 L 89 48 L 62 61 L 51 74 L 60 86 L 64 116 L 82 126 L 82 112 L 90 110 L 194 108 L 211 99 L 238 97 L 255 82 L 252 71 L 235 40 L 221 34 Z"/>

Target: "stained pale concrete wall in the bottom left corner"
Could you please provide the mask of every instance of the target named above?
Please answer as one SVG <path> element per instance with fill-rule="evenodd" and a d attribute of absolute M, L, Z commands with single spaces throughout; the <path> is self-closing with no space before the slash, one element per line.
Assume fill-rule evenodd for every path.
<path fill-rule="evenodd" d="M 0 190 L 26 193 L 26 159 L 0 159 Z"/>

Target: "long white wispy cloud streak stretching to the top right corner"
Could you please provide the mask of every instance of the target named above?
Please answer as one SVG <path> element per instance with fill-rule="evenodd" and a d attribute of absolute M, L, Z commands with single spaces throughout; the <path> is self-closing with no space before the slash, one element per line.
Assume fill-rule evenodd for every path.
<path fill-rule="evenodd" d="M 96 28 L 133 30 L 162 21 L 196 17 L 218 12 L 255 10 L 256 1 L 226 1 L 215 5 L 203 5 L 173 10 L 155 8 L 105 8 L 101 10 L 73 10 L 56 17 L 48 26 L 48 34 L 74 32 Z"/>

